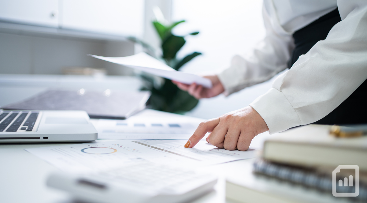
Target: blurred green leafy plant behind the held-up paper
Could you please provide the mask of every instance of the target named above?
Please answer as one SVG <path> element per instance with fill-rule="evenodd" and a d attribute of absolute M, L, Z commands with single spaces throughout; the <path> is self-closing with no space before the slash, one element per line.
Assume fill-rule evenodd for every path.
<path fill-rule="evenodd" d="M 162 21 L 153 21 L 153 25 L 161 39 L 162 56 L 158 57 L 163 59 L 167 65 L 179 70 L 182 65 L 188 63 L 190 60 L 199 56 L 201 53 L 193 52 L 187 56 L 178 59 L 176 57 L 177 52 L 185 44 L 185 36 L 176 36 L 172 34 L 172 29 L 185 21 L 178 21 L 172 24 L 165 24 Z M 193 32 L 188 35 L 197 35 L 199 32 Z M 188 36 L 186 35 L 186 36 Z M 130 38 L 134 42 L 141 43 L 143 47 L 152 52 L 152 47 L 146 43 L 143 43 L 136 38 Z M 149 90 L 152 92 L 150 96 L 149 104 L 155 110 L 167 111 L 172 113 L 183 113 L 194 108 L 199 102 L 195 97 L 188 94 L 173 84 L 169 79 L 160 78 L 161 82 L 157 83 L 157 79 L 152 75 L 142 74 L 141 77 L 145 81 L 145 87 L 143 90 Z"/>

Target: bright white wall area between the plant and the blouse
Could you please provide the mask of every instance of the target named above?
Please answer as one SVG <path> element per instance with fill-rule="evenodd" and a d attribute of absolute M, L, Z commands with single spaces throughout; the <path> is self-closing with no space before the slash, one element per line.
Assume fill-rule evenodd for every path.
<path fill-rule="evenodd" d="M 174 0 L 172 20 L 186 20 L 174 33 L 188 36 L 178 57 L 193 51 L 203 56 L 186 64 L 182 71 L 202 72 L 228 67 L 235 54 L 246 53 L 265 37 L 262 0 Z"/>

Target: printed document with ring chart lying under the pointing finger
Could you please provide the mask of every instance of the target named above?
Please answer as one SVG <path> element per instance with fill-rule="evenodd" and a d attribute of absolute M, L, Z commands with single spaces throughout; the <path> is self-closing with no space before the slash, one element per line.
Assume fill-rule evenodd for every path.
<path fill-rule="evenodd" d="M 100 140 L 101 141 L 101 140 Z M 40 147 L 26 151 L 65 172 L 83 173 L 118 168 L 134 160 L 147 160 L 175 167 L 196 168 L 258 156 L 257 150 L 228 151 L 205 140 L 193 148 L 186 140 L 113 140 L 64 146 Z"/>

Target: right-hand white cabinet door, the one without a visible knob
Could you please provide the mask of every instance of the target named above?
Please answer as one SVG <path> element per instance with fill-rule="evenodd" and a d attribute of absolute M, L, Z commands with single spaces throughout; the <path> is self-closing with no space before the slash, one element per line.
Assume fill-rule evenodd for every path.
<path fill-rule="evenodd" d="M 62 0 L 61 26 L 123 36 L 142 36 L 143 0 Z"/>

